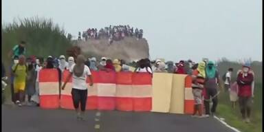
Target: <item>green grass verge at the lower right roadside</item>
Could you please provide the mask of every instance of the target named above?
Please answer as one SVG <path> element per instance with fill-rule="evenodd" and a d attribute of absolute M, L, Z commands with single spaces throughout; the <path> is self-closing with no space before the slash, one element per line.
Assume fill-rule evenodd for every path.
<path fill-rule="evenodd" d="M 236 104 L 236 107 L 232 109 L 228 93 L 221 92 L 219 95 L 217 116 L 219 116 L 219 118 L 225 118 L 225 122 L 239 129 L 241 132 L 262 131 L 262 83 L 256 83 L 254 93 L 255 97 L 250 124 L 242 122 L 239 104 Z"/>

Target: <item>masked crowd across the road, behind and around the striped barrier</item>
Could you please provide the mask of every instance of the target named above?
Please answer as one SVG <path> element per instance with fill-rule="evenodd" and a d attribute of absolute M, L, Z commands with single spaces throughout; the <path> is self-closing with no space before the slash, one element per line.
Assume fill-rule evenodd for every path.
<path fill-rule="evenodd" d="M 74 88 L 72 92 L 72 96 L 74 96 L 74 107 L 78 109 L 78 103 L 80 102 L 81 111 L 83 112 L 85 111 L 87 100 L 87 85 L 83 80 L 89 77 L 90 85 L 93 85 L 91 71 L 146 72 L 151 75 L 153 72 L 188 74 L 192 77 L 192 94 L 195 100 L 192 117 L 206 118 L 214 115 L 217 110 L 220 76 L 216 65 L 212 61 L 203 60 L 195 63 L 188 60 L 173 63 L 173 61 L 151 61 L 148 58 L 144 58 L 140 61 L 128 63 L 122 59 L 115 58 L 112 60 L 106 57 L 102 57 L 97 61 L 95 57 L 85 58 L 82 55 L 79 55 L 77 58 L 69 56 L 67 59 L 64 55 L 58 58 L 47 56 L 45 60 L 44 58 L 35 56 L 25 58 L 25 42 L 23 41 L 12 49 L 10 55 L 12 55 L 13 61 L 10 67 L 10 72 L 12 73 L 12 101 L 19 106 L 25 104 L 25 100 L 27 100 L 27 105 L 37 106 L 39 104 L 40 70 L 58 69 L 59 80 L 61 80 L 61 74 L 64 70 L 69 70 L 72 73 L 68 76 L 67 80 L 71 76 L 74 76 Z M 131 71 L 130 67 L 135 67 L 135 70 Z M 2 73 L 4 73 L 4 69 L 2 63 Z M 254 96 L 254 86 L 252 87 L 252 83 L 254 83 L 254 72 L 250 67 L 250 63 L 245 63 L 242 66 L 241 70 L 237 72 L 237 77 L 234 81 L 231 79 L 232 72 L 233 69 L 230 67 L 222 77 L 225 91 L 230 91 L 230 100 L 233 103 L 238 100 L 243 121 L 250 122 L 251 102 L 252 96 Z M 62 89 L 64 89 L 66 84 L 67 81 L 63 85 L 60 83 Z M 25 99 L 25 95 L 28 98 Z M 210 102 L 212 102 L 211 109 Z M 204 114 L 202 104 L 205 106 Z M 78 118 L 80 117 L 78 113 Z"/>

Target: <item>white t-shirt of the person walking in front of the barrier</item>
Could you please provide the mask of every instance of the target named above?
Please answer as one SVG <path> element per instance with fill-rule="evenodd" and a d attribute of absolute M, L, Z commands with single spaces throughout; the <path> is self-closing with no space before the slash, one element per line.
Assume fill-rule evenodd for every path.
<path fill-rule="evenodd" d="M 74 65 L 72 65 L 72 67 L 69 69 L 69 72 L 74 72 Z M 86 83 L 86 79 L 87 76 L 91 75 L 91 71 L 89 69 L 89 67 L 87 67 L 87 65 L 85 65 L 85 69 L 83 72 L 83 75 L 80 77 L 77 77 L 73 74 L 72 76 L 72 85 L 73 85 L 73 89 L 80 89 L 80 90 L 86 90 L 87 89 L 87 83 Z"/>

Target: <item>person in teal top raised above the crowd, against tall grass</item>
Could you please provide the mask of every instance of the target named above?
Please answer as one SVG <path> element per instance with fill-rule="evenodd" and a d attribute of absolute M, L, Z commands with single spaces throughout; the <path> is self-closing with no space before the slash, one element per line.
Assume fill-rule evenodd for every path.
<path fill-rule="evenodd" d="M 9 52 L 9 56 L 12 56 L 12 58 L 14 58 L 14 56 L 25 55 L 25 44 L 25 41 L 21 41 L 19 45 L 15 45 Z"/>

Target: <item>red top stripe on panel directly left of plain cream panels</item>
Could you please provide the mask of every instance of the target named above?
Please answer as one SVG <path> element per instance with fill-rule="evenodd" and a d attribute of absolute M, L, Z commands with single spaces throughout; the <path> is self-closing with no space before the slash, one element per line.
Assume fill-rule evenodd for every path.
<path fill-rule="evenodd" d="M 152 76 L 148 73 L 136 73 L 132 76 L 133 85 L 152 85 Z"/>

